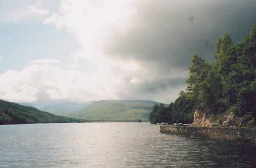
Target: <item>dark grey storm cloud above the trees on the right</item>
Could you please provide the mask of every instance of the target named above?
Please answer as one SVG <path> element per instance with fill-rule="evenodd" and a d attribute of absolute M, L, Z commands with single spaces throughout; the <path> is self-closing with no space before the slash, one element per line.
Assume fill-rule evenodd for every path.
<path fill-rule="evenodd" d="M 172 70 L 180 70 L 175 71 L 176 75 L 188 71 L 194 53 L 213 61 L 218 37 L 228 33 L 233 41 L 241 40 L 256 21 L 255 9 L 255 0 L 139 2 L 131 18 L 132 28 L 115 32 L 105 49 L 110 55 L 136 60 L 156 74 L 153 83 L 129 86 L 134 94 L 176 90 L 185 85 L 185 79 L 173 78 Z M 167 81 L 159 76 L 165 76 Z"/>

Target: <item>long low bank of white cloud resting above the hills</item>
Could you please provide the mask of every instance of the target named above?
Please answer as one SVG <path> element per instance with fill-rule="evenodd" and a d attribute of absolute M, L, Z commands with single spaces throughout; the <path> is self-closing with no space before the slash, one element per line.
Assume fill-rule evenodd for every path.
<path fill-rule="evenodd" d="M 160 93 L 172 93 L 174 98 L 184 88 L 178 84 L 183 78 L 173 76 L 173 82 L 165 78 L 156 81 L 150 71 L 134 62 L 113 62 L 113 66 L 88 71 L 74 66 L 77 64 L 72 61 L 64 64 L 55 59 L 38 59 L 28 62 L 21 71 L 8 70 L 0 75 L 0 98 L 15 102 L 86 102 L 150 96 L 151 100 L 168 102 L 170 96 L 159 98 Z"/>

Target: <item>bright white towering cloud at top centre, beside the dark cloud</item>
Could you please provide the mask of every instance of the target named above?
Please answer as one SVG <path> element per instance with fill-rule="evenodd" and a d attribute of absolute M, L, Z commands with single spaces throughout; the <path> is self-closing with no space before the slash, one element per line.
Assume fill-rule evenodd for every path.
<path fill-rule="evenodd" d="M 80 44 L 73 54 L 73 59 L 80 57 L 97 63 L 109 59 L 103 51 L 113 29 L 129 28 L 132 14 L 136 13 L 131 4 L 133 1 L 84 1 L 61 0 L 57 13 L 44 20 L 45 24 L 54 24 L 57 29 L 74 34 Z"/>

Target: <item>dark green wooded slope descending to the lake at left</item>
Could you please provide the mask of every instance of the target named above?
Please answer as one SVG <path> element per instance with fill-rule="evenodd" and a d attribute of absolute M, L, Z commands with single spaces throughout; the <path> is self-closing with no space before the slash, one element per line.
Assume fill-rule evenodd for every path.
<path fill-rule="evenodd" d="M 0 100 L 0 124 L 85 122 L 43 112 L 33 107 Z"/>

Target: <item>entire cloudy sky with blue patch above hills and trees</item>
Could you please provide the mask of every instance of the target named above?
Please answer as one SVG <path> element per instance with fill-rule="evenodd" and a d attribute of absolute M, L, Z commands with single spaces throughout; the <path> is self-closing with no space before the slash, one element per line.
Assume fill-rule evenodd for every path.
<path fill-rule="evenodd" d="M 255 0 L 0 0 L 0 99 L 154 100 L 186 88 L 190 56 L 214 61 L 256 21 Z"/>

